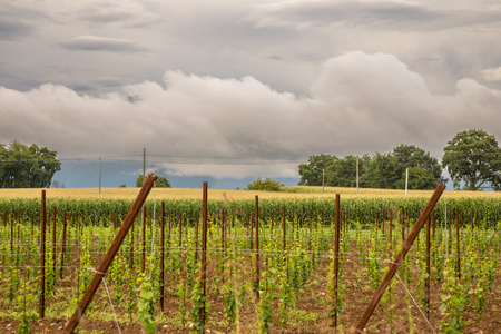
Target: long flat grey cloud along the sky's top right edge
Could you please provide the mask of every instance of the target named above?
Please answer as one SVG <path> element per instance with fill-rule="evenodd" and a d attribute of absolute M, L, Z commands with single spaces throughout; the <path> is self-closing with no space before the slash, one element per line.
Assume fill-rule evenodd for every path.
<path fill-rule="evenodd" d="M 367 1 L 284 2 L 259 7 L 257 27 L 266 26 L 326 26 L 343 23 L 348 27 L 377 29 L 442 30 L 499 23 L 500 10 L 433 9 L 418 3 Z"/>

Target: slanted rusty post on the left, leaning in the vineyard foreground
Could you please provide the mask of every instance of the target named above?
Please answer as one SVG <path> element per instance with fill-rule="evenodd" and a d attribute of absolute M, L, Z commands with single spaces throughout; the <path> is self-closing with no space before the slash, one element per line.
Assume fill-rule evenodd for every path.
<path fill-rule="evenodd" d="M 148 178 L 146 179 L 145 184 L 143 185 L 141 190 L 139 191 L 139 195 L 137 196 L 136 200 L 134 202 L 132 206 L 130 207 L 129 213 L 127 214 L 127 217 L 124 220 L 124 224 L 121 225 L 120 229 L 118 230 L 117 235 L 115 236 L 114 242 L 111 243 L 108 252 L 105 255 L 105 258 L 102 259 L 101 264 L 97 268 L 96 274 L 92 277 L 92 281 L 90 282 L 89 286 L 87 287 L 86 293 L 84 294 L 84 297 L 81 298 L 80 303 L 77 306 L 77 310 L 75 311 L 73 315 L 69 320 L 69 322 L 65 326 L 65 334 L 73 333 L 75 328 L 77 328 L 81 316 L 86 312 L 87 307 L 89 306 L 90 302 L 92 301 L 94 294 L 98 289 L 102 276 L 108 272 L 109 266 L 111 265 L 111 262 L 115 258 L 115 255 L 117 255 L 118 250 L 120 249 L 121 244 L 124 243 L 124 239 L 127 236 L 127 233 L 130 229 L 130 226 L 134 223 L 134 219 L 136 219 L 136 216 L 139 214 L 139 210 L 141 209 L 146 198 L 148 197 L 149 191 L 151 190 L 151 187 L 154 186 L 155 180 L 157 179 L 157 176 L 155 174 L 148 175 Z"/>

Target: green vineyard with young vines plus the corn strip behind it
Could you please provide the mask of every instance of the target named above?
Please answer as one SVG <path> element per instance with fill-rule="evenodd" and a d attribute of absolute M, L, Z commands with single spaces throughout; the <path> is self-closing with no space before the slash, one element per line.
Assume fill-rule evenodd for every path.
<path fill-rule="evenodd" d="M 78 331 L 352 333 L 428 200 L 209 194 L 203 282 L 202 191 L 150 195 Z M 62 332 L 131 205 L 0 199 L 0 331 Z M 366 332 L 501 333 L 500 222 L 497 198 L 442 197 Z"/>

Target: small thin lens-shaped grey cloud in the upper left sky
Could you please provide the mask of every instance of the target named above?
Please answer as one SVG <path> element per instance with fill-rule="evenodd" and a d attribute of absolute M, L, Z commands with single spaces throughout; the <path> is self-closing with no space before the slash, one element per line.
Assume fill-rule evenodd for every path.
<path fill-rule="evenodd" d="M 108 51 L 108 52 L 141 52 L 143 48 L 129 40 L 106 38 L 99 36 L 78 36 L 70 40 L 61 41 L 59 46 L 70 51 Z"/>

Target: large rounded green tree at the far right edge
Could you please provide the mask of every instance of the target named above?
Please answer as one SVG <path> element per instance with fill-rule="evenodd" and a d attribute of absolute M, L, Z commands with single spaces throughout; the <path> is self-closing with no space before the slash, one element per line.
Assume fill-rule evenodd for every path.
<path fill-rule="evenodd" d="M 485 184 L 501 189 L 501 148 L 494 136 L 477 129 L 461 131 L 448 141 L 443 151 L 442 165 L 455 188 L 464 181 L 464 189 L 469 190 Z"/>

